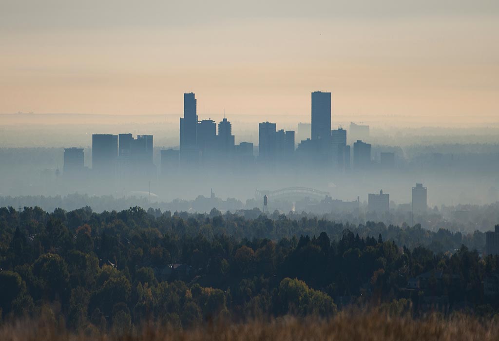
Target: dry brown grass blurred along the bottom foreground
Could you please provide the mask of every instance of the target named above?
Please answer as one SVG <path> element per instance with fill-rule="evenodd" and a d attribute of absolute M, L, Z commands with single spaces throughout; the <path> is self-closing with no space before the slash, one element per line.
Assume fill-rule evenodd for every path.
<path fill-rule="evenodd" d="M 43 322 L 18 322 L 0 327 L 2 341 L 289 341 L 289 340 L 498 340 L 496 319 L 480 322 L 459 315 L 449 319 L 432 316 L 415 320 L 410 317 L 388 317 L 380 313 L 340 313 L 332 319 L 284 317 L 244 324 L 207 325 L 185 331 L 167 327 L 145 327 L 141 331 L 117 334 L 72 333 Z"/>

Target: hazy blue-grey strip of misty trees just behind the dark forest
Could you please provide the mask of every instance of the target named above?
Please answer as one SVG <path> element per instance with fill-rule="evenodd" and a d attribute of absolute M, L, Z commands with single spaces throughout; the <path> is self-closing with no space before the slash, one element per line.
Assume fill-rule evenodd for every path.
<path fill-rule="evenodd" d="M 369 212 L 365 204 L 360 204 L 356 210 L 336 210 L 321 212 L 310 209 L 310 201 L 302 207 L 294 203 L 295 211 L 289 210 L 292 203 L 284 200 L 273 203 L 274 209 L 268 214 L 259 207 L 255 199 L 246 202 L 229 198 L 210 198 L 200 195 L 194 200 L 175 199 L 169 202 L 155 201 L 147 197 L 114 197 L 112 195 L 89 196 L 87 194 L 69 194 L 65 196 L 0 196 L 0 206 L 24 209 L 39 207 L 47 212 L 57 209 L 72 211 L 81 207 L 92 207 L 92 212 L 111 212 L 126 210 L 129 207 L 146 207 L 153 215 L 168 212 L 185 216 L 196 214 L 214 214 L 213 212 L 236 214 L 248 219 L 264 215 L 270 219 L 286 216 L 288 219 L 316 218 L 335 221 L 343 224 L 364 225 L 368 221 L 379 221 L 386 226 L 395 225 L 407 228 L 418 224 L 430 231 L 446 229 L 452 232 L 474 233 L 493 230 L 499 221 L 499 202 L 486 205 L 456 205 L 435 207 L 427 212 L 411 214 L 397 207 L 390 212 L 378 214 Z M 319 204 L 315 202 L 315 204 Z M 302 208 L 301 210 L 299 208 Z M 308 210 L 306 210 L 308 208 Z"/>

